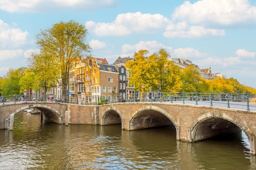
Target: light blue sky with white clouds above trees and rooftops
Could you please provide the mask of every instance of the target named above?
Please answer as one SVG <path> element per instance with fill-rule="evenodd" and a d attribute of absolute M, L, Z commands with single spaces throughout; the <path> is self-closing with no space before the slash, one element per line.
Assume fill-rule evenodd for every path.
<path fill-rule="evenodd" d="M 110 64 L 164 48 L 256 88 L 256 0 L 0 0 L 0 76 L 27 66 L 41 30 L 70 20 Z"/>

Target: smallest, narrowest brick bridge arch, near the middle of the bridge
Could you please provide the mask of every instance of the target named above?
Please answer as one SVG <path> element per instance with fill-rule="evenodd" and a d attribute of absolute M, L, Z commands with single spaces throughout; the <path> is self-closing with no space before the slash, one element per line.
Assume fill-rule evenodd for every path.
<path fill-rule="evenodd" d="M 121 124 L 122 117 L 120 110 L 115 107 L 110 107 L 101 117 L 101 125 L 110 125 L 110 124 Z"/>

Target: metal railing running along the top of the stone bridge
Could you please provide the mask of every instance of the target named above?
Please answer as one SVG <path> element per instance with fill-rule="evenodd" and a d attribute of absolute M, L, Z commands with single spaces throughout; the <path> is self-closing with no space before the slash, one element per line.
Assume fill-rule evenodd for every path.
<path fill-rule="evenodd" d="M 0 103 L 7 102 L 58 102 L 70 104 L 101 105 L 121 102 L 163 102 L 219 106 L 256 110 L 256 94 L 239 93 L 184 93 L 184 92 L 150 92 L 131 93 L 126 95 L 97 96 L 94 99 L 86 97 L 65 97 L 65 100 L 54 97 L 36 97 L 24 95 L 0 96 Z"/>

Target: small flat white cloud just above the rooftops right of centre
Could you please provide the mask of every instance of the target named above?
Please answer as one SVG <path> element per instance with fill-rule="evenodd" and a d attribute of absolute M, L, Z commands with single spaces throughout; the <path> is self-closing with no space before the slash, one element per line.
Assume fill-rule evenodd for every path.
<path fill-rule="evenodd" d="M 199 57 L 207 57 L 207 53 L 200 53 L 200 51 L 192 48 L 179 48 L 175 49 L 174 52 L 171 54 L 173 58 L 199 58 Z"/>

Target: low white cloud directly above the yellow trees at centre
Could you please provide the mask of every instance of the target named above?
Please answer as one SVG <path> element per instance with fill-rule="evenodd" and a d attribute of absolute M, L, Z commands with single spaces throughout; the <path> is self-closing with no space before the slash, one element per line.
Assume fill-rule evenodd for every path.
<path fill-rule="evenodd" d="M 150 53 L 158 52 L 160 49 L 166 49 L 168 53 L 172 51 L 172 47 L 164 46 L 164 44 L 159 43 L 157 41 L 140 41 L 134 46 L 130 44 L 124 44 L 122 46 L 123 53 L 134 53 L 138 52 L 141 49 L 148 50 Z"/>

